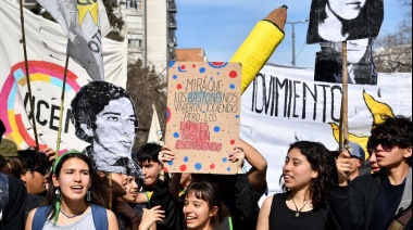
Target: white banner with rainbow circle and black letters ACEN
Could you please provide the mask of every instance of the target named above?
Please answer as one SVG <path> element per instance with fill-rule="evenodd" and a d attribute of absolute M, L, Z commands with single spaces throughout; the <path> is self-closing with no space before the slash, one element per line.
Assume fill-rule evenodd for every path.
<path fill-rule="evenodd" d="M 22 46 L 20 9 L 15 1 L 0 1 L 0 118 L 5 138 L 20 149 L 35 145 L 33 126 L 28 122 L 30 106 L 26 84 L 26 68 Z M 25 37 L 29 65 L 35 119 L 40 149 L 55 149 L 62 80 L 66 59 L 67 38 L 59 24 L 34 15 L 24 9 Z M 105 80 L 126 87 L 127 44 L 103 39 Z M 70 61 L 64 100 L 61 150 L 82 151 L 87 144 L 78 140 L 70 122 L 70 103 L 82 86 L 91 81 L 86 71 Z"/>

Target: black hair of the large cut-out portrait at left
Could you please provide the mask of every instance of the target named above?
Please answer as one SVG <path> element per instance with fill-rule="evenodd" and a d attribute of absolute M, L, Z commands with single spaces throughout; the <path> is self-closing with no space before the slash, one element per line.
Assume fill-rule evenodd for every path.
<path fill-rule="evenodd" d="M 76 137 L 91 143 L 93 137 L 86 135 L 80 125 L 86 124 L 95 130 L 96 116 L 104 110 L 104 106 L 107 106 L 110 101 L 121 98 L 129 99 L 135 112 L 135 104 L 130 95 L 122 87 L 105 81 L 91 81 L 82 87 L 71 102 L 71 118 L 75 125 Z M 135 133 L 138 131 L 138 118 L 135 113 Z"/>

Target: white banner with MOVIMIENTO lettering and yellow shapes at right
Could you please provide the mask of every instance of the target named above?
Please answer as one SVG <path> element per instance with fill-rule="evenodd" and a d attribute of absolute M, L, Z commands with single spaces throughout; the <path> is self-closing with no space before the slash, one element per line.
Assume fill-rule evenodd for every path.
<path fill-rule="evenodd" d="M 313 77 L 313 69 L 265 65 L 242 94 L 241 139 L 266 158 L 270 193 L 281 191 L 279 178 L 290 143 L 310 140 L 338 149 L 341 85 Z M 377 86 L 349 85 L 351 141 L 365 146 L 380 113 L 412 116 L 411 73 L 379 74 Z"/>

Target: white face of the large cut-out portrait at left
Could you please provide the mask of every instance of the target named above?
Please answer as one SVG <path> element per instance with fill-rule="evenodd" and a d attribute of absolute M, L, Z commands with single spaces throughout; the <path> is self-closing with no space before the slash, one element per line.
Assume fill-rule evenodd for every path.
<path fill-rule="evenodd" d="M 96 116 L 95 144 L 112 153 L 127 153 L 134 144 L 135 111 L 130 100 L 112 100 Z"/>

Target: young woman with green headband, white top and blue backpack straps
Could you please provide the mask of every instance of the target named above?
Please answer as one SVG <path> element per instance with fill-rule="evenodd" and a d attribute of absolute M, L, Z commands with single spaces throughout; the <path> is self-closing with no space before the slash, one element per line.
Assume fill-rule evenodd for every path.
<path fill-rule="evenodd" d="M 52 169 L 52 180 L 49 181 L 47 209 L 36 208 L 28 214 L 26 229 L 37 229 L 37 215 L 46 216 L 40 229 L 96 229 L 91 204 L 103 204 L 97 184 L 92 184 L 92 164 L 88 156 L 77 151 L 61 155 Z M 117 229 L 115 215 L 104 207 L 93 206 L 93 209 L 104 210 L 108 218 L 108 229 Z M 103 214 L 104 214 L 103 213 Z M 104 216 L 104 215 L 103 215 Z"/>

